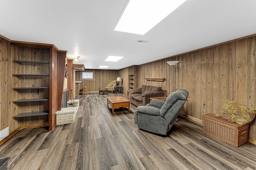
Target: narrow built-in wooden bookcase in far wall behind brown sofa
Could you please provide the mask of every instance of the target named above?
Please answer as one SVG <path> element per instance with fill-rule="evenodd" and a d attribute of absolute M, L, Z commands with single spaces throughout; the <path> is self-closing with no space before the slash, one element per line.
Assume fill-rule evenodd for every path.
<path fill-rule="evenodd" d="M 132 65 L 128 67 L 128 89 L 138 87 L 138 66 Z"/>

